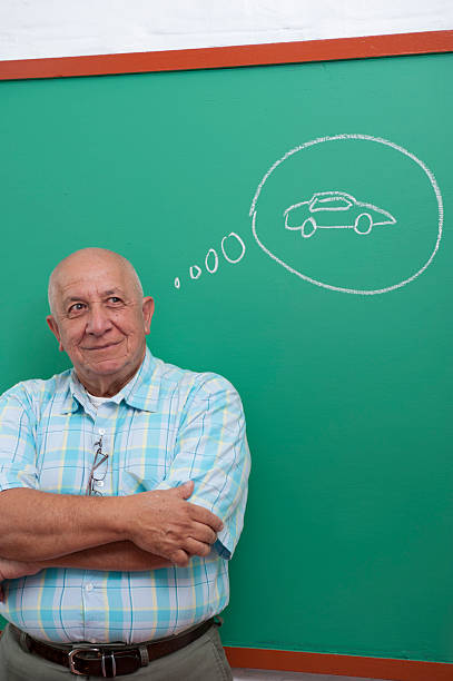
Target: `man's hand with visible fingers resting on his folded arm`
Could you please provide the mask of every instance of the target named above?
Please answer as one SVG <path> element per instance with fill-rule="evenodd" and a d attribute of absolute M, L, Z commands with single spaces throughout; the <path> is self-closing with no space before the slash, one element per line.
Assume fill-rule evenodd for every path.
<path fill-rule="evenodd" d="M 224 524 L 207 509 L 187 501 L 193 492 L 189 481 L 171 490 L 122 497 L 127 539 L 180 568 L 187 566 L 193 555 L 208 555 Z"/>

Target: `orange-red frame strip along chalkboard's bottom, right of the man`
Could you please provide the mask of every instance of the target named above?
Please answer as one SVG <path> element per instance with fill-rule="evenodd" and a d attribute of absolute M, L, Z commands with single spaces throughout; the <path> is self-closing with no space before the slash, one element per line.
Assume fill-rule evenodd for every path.
<path fill-rule="evenodd" d="M 232 667 L 398 681 L 452 681 L 453 664 L 290 650 L 225 648 Z"/>

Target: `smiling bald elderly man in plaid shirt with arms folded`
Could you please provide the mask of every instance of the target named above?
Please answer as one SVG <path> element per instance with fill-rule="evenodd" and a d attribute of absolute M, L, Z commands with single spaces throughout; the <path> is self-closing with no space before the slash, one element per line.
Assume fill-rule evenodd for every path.
<path fill-rule="evenodd" d="M 0 399 L 0 679 L 230 679 L 228 602 L 249 455 L 240 399 L 146 346 L 130 263 L 62 260 L 47 318 L 73 365 Z"/>

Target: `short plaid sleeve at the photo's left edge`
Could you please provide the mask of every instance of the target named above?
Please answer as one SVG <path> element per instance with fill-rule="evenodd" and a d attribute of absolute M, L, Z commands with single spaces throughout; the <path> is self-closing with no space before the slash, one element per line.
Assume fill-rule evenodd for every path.
<path fill-rule="evenodd" d="M 0 397 L 0 492 L 38 487 L 35 414 L 20 386 Z"/>

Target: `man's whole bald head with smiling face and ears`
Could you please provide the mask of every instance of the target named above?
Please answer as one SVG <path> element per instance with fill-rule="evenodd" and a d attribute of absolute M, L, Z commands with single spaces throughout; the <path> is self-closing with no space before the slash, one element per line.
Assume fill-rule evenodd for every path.
<path fill-rule="evenodd" d="M 154 303 L 139 297 L 119 260 L 85 256 L 66 263 L 53 298 L 48 324 L 83 384 L 124 384 L 134 375 L 145 355 Z"/>

